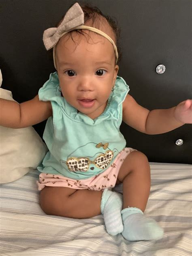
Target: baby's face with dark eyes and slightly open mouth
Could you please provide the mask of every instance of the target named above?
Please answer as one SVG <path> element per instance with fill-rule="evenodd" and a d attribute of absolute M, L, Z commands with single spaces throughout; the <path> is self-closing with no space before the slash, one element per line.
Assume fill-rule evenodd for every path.
<path fill-rule="evenodd" d="M 75 43 L 66 34 L 56 46 L 55 57 L 63 97 L 94 119 L 105 110 L 119 67 L 109 40 L 89 30 L 86 33 L 91 39 L 74 33 Z"/>

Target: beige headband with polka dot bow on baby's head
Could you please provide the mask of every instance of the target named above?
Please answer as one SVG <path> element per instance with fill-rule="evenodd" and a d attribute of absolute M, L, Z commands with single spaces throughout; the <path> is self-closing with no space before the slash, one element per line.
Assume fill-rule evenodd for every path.
<path fill-rule="evenodd" d="M 107 38 L 113 45 L 114 50 L 115 50 L 115 56 L 116 56 L 116 64 L 118 60 L 118 52 L 117 52 L 117 47 L 107 34 L 102 32 L 101 30 L 98 30 L 97 28 L 89 27 L 89 26 L 84 26 L 84 13 L 83 10 L 81 9 L 81 6 L 78 3 L 73 4 L 73 6 L 66 12 L 66 15 L 64 16 L 64 19 L 62 20 L 61 24 L 58 26 L 58 28 L 48 28 L 44 31 L 43 33 L 43 43 L 45 45 L 45 48 L 47 50 L 53 48 L 53 61 L 54 61 L 54 66 L 56 68 L 56 62 L 55 62 L 55 45 L 58 43 L 60 38 L 76 29 L 87 29 L 91 30 L 93 32 L 96 32 L 103 37 Z"/>

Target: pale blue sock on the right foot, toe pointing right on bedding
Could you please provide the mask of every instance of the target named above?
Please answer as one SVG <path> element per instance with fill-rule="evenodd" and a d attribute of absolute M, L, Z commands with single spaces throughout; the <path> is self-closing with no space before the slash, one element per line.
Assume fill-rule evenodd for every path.
<path fill-rule="evenodd" d="M 123 237 L 128 241 L 152 240 L 163 237 L 164 231 L 159 224 L 143 214 L 136 207 L 128 207 L 122 210 L 124 230 Z"/>

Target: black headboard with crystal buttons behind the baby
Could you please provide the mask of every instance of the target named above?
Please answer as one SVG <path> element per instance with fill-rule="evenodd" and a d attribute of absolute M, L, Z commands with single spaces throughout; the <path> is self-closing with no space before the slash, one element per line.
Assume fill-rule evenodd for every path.
<path fill-rule="evenodd" d="M 137 103 L 153 110 L 192 99 L 191 0 L 0 0 L 2 88 L 11 90 L 15 100 L 35 97 L 55 71 L 43 31 L 54 27 L 73 2 L 96 5 L 117 19 L 123 52 L 118 75 Z M 160 64 L 166 68 L 162 74 L 156 72 Z M 41 137 L 45 123 L 34 125 Z M 151 162 L 192 163 L 192 125 L 147 135 L 122 123 L 121 131 L 127 146 Z"/>

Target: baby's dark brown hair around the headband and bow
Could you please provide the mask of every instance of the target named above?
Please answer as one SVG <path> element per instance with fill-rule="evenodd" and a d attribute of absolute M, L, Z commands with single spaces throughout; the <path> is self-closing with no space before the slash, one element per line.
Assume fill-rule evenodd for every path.
<path fill-rule="evenodd" d="M 73 4 L 71 4 L 68 9 L 70 9 L 70 7 L 73 6 L 76 2 L 77 1 L 73 2 Z M 103 14 L 100 11 L 100 9 L 98 9 L 98 7 L 92 6 L 90 3 L 87 3 L 85 1 L 83 3 L 81 3 L 79 1 L 78 4 L 81 6 L 81 9 L 83 10 L 83 13 L 84 13 L 84 23 L 87 22 L 88 20 L 91 20 L 92 21 L 92 26 L 96 27 L 96 26 L 94 26 L 95 21 L 97 21 L 99 19 L 99 16 L 101 15 L 102 17 L 104 17 L 107 20 L 108 24 L 111 26 L 111 28 L 113 30 L 113 34 L 115 36 L 115 44 L 117 46 L 117 52 L 118 52 L 118 55 L 119 55 L 118 60 L 117 60 L 117 65 L 118 65 L 121 58 L 122 58 L 122 49 L 120 47 L 120 42 L 119 42 L 120 41 L 119 39 L 120 39 L 121 29 L 117 26 L 117 19 L 115 17 L 112 18 L 109 15 Z M 60 22 L 58 22 L 58 24 L 56 24 L 56 27 L 58 27 L 60 25 L 60 23 L 64 19 L 64 16 L 62 17 Z M 85 33 L 81 29 L 73 30 L 73 31 L 77 31 L 78 33 L 81 33 L 81 34 Z M 72 32 L 73 31 L 69 32 L 72 40 L 73 40 L 73 37 L 72 37 Z M 85 33 L 85 34 L 87 34 L 87 33 Z M 51 49 L 51 50 L 53 52 L 53 49 Z"/>

